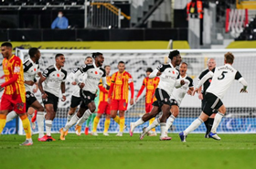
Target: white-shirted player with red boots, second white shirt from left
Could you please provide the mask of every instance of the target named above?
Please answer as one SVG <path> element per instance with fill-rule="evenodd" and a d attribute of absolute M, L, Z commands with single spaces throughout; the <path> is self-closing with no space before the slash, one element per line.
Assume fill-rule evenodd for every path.
<path fill-rule="evenodd" d="M 43 76 L 39 79 L 38 87 L 42 93 L 43 103 L 47 111 L 46 114 L 46 132 L 47 134 L 38 139 L 41 142 L 55 141 L 51 137 L 52 121 L 56 116 L 56 111 L 59 103 L 59 90 L 62 93 L 62 101 L 66 100 L 65 94 L 65 79 L 67 78 L 67 71 L 61 69 L 64 67 L 65 57 L 63 54 L 55 56 L 56 63 L 43 71 Z M 45 82 L 43 89 L 42 83 Z M 39 125 L 39 123 L 38 123 Z"/>

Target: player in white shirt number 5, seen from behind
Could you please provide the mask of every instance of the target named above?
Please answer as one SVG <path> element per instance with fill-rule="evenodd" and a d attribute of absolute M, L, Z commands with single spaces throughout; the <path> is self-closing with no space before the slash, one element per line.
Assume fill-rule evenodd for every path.
<path fill-rule="evenodd" d="M 243 85 L 243 88 L 240 92 L 247 92 L 247 82 L 245 79 L 242 78 L 240 72 L 232 67 L 234 61 L 234 56 L 232 53 L 226 53 L 224 56 L 224 66 L 218 67 L 213 69 L 213 71 L 209 71 L 198 83 L 197 88 L 193 91 L 192 95 L 194 95 L 198 88 L 202 86 L 202 84 L 210 77 L 212 77 L 211 84 L 208 87 L 207 94 L 205 96 L 206 105 L 204 110 L 197 118 L 197 120 L 193 121 L 190 126 L 184 132 L 179 133 L 179 137 L 181 142 L 186 142 L 186 137 L 189 132 L 193 132 L 197 129 L 199 125 L 203 121 L 207 121 L 208 117 L 215 111 L 219 110 L 216 114 L 211 132 L 209 132 L 209 138 L 213 138 L 215 140 L 220 140 L 220 137 L 217 135 L 217 128 L 219 126 L 219 122 L 221 121 L 222 117 L 226 113 L 226 107 L 222 103 L 222 99 L 229 89 L 230 85 L 232 84 L 234 79 L 240 81 Z"/>

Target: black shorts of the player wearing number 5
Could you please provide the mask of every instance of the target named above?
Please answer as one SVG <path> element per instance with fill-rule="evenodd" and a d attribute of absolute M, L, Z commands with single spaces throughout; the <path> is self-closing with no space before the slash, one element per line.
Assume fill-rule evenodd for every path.
<path fill-rule="evenodd" d="M 206 103 L 203 107 L 203 111 L 210 116 L 212 113 L 216 113 L 219 108 L 223 105 L 222 101 L 212 93 L 205 95 Z"/>

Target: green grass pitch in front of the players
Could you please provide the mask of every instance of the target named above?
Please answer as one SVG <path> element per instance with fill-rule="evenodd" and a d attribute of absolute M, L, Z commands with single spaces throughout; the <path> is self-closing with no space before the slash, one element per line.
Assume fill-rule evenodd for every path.
<path fill-rule="evenodd" d="M 1 169 L 253 169 L 256 168 L 256 134 L 219 134 L 221 141 L 189 134 L 181 143 L 177 133 L 172 141 L 159 137 L 109 137 L 69 134 L 66 141 L 19 146 L 25 136 L 0 135 Z"/>

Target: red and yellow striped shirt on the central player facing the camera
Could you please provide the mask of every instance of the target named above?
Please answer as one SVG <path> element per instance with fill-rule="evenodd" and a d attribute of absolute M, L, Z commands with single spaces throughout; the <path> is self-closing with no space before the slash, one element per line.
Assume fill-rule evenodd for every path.
<path fill-rule="evenodd" d="M 123 71 L 123 73 L 119 73 L 119 71 L 115 72 L 112 75 L 112 85 L 113 89 L 109 92 L 109 98 L 114 100 L 126 100 L 128 101 L 129 87 L 130 83 L 133 83 L 133 77 L 127 71 Z M 133 85 L 132 85 L 133 86 Z M 131 86 L 130 86 L 131 88 Z M 133 87 L 132 87 L 133 88 Z M 133 89 L 131 88 L 131 95 L 133 98 Z"/>

